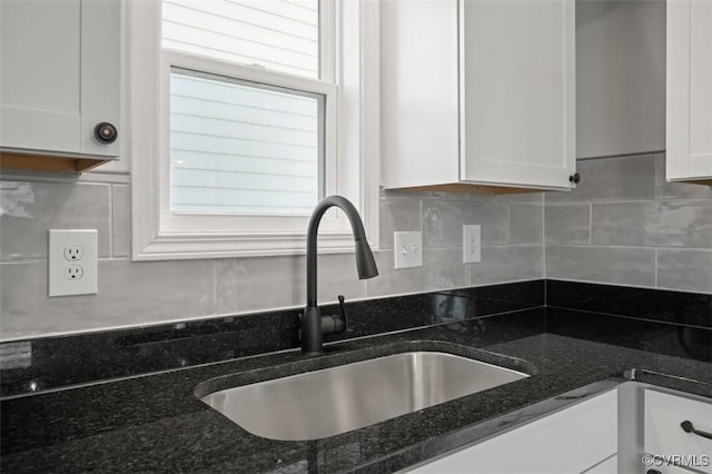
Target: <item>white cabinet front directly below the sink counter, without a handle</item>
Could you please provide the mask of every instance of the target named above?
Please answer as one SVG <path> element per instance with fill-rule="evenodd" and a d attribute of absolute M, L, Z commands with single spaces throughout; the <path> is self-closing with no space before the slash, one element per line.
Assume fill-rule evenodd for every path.
<path fill-rule="evenodd" d="M 617 391 L 613 389 L 408 472 L 604 473 L 601 466 L 616 452 Z M 616 471 L 613 463 L 609 473 Z"/>

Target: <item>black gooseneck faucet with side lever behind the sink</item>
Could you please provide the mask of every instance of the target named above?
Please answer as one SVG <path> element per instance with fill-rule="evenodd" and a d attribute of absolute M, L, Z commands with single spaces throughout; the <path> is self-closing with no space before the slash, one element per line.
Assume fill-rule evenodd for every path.
<path fill-rule="evenodd" d="M 316 305 L 316 235 L 319 229 L 322 216 L 324 216 L 324 213 L 332 206 L 342 208 L 352 225 L 352 233 L 354 234 L 356 245 L 356 270 L 358 271 L 358 278 L 373 278 L 378 275 L 374 254 L 370 251 L 370 247 L 368 247 L 368 241 L 366 240 L 364 224 L 354 205 L 342 196 L 324 198 L 314 208 L 312 218 L 309 219 L 309 227 L 307 228 L 307 307 L 304 309 L 304 315 L 301 315 L 303 355 L 312 356 L 323 354 L 324 334 L 346 329 L 346 314 L 344 312 L 343 297 L 339 297 L 339 304 L 342 305 L 344 324 L 342 324 L 340 320 L 335 320 L 332 316 L 322 317 L 319 307 Z"/>

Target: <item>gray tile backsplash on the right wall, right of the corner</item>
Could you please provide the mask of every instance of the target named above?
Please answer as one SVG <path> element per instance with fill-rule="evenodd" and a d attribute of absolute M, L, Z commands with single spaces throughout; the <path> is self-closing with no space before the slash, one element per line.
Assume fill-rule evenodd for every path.
<path fill-rule="evenodd" d="M 712 188 L 668 182 L 664 155 L 578 161 L 545 196 L 546 277 L 712 293 Z"/>

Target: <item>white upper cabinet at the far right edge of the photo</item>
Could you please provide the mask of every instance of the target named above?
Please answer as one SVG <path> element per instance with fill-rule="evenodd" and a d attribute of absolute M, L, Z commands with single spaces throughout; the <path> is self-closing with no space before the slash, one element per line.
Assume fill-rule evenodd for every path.
<path fill-rule="evenodd" d="M 668 2 L 669 180 L 712 179 L 712 0 Z"/>

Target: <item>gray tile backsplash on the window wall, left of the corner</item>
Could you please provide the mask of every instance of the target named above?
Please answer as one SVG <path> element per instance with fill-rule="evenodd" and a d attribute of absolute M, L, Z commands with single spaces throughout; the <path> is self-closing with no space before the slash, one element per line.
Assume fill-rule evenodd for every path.
<path fill-rule="evenodd" d="M 102 168 L 103 169 L 103 168 Z M 130 175 L 78 180 L 3 176 L 0 339 L 296 307 L 304 257 L 130 260 Z M 319 300 L 419 293 L 544 276 L 543 197 L 383 192 L 380 275 L 358 280 L 353 255 L 319 257 Z M 481 264 L 462 264 L 462 225 L 483 226 Z M 99 293 L 47 297 L 47 230 L 99 230 Z M 393 231 L 423 230 L 424 266 L 394 270 Z M 386 316 L 384 316 L 386 317 Z"/>

